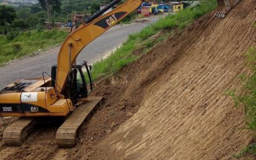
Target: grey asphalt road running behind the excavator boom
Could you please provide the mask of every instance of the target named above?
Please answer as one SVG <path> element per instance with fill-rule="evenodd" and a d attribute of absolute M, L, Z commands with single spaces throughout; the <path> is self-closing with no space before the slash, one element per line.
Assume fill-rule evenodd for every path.
<path fill-rule="evenodd" d="M 99 36 L 99 38 L 95 39 L 81 51 L 77 58 L 78 64 L 83 62 L 83 60 L 93 63 L 99 58 L 104 57 L 104 55 L 109 54 L 117 46 L 125 42 L 129 34 L 140 31 L 149 23 L 156 22 L 158 18 L 151 17 L 149 22 L 117 25 L 110 28 L 109 31 Z M 41 77 L 43 71 L 51 73 L 51 66 L 57 63 L 58 53 L 59 47 L 56 47 L 35 57 L 19 60 L 18 62 L 1 67 L 0 89 L 19 79 Z"/>

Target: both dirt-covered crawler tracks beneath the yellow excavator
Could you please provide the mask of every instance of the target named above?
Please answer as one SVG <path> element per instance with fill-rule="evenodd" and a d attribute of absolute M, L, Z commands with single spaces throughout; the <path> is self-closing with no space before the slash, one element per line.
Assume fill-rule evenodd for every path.
<path fill-rule="evenodd" d="M 64 123 L 56 132 L 57 145 L 60 147 L 74 147 L 76 145 L 76 135 L 79 127 L 85 119 L 90 118 L 93 111 L 97 110 L 102 103 L 104 103 L 103 97 L 88 97 L 85 103 L 67 116 L 67 119 L 65 119 Z M 2 136 L 4 145 L 22 145 L 30 132 L 32 132 L 38 124 L 43 124 L 43 122 L 42 118 L 35 117 L 17 119 L 17 121 L 4 130 Z"/>

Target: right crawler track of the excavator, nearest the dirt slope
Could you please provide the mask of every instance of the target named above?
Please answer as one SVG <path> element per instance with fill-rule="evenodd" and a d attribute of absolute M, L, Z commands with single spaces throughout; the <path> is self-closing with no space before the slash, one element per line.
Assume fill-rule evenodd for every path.
<path fill-rule="evenodd" d="M 60 147 L 74 147 L 78 128 L 90 116 L 92 111 L 102 105 L 103 97 L 89 97 L 86 103 L 80 105 L 59 127 L 56 133 L 56 143 Z"/>

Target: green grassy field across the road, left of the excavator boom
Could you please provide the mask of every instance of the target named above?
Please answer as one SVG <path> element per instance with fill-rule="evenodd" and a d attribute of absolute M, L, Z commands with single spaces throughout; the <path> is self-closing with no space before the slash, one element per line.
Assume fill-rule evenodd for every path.
<path fill-rule="evenodd" d="M 11 32 L 6 36 L 0 35 L 0 66 L 10 60 L 33 55 L 39 49 L 59 45 L 67 34 L 68 31 L 33 30 L 23 33 Z"/>

